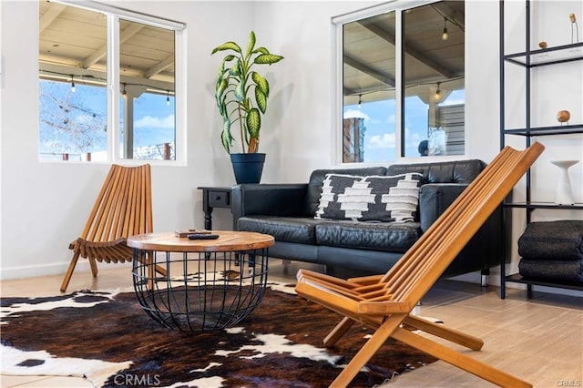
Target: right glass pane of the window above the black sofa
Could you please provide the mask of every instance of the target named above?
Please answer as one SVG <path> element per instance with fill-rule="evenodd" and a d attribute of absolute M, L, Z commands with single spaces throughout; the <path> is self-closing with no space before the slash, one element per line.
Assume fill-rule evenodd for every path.
<path fill-rule="evenodd" d="M 403 14 L 404 156 L 465 152 L 464 2 Z"/>

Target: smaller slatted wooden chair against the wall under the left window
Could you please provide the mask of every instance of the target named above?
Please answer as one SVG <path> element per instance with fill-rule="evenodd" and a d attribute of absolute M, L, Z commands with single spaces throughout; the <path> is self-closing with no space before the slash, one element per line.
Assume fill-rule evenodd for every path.
<path fill-rule="evenodd" d="M 61 284 L 61 292 L 71 280 L 79 257 L 89 260 L 93 276 L 97 262 L 132 260 L 126 245 L 129 236 L 152 232 L 150 167 L 112 165 L 81 236 L 69 244 L 73 258 Z M 157 266 L 156 271 L 166 271 Z"/>

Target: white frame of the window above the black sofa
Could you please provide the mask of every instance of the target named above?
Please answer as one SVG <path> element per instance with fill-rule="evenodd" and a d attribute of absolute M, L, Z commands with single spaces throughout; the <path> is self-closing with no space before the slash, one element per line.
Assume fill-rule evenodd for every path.
<path fill-rule="evenodd" d="M 354 12 L 333 16 L 332 25 L 332 163 L 342 166 L 378 165 L 378 162 L 343 162 L 343 26 L 364 18 L 395 12 L 395 155 L 394 162 L 384 164 L 405 163 L 419 160 L 419 157 L 404 156 L 404 50 L 403 50 L 403 13 L 407 9 L 423 5 L 431 5 L 444 0 L 391 0 L 389 2 L 372 5 Z M 465 107 L 467 104 L 465 102 Z M 463 155 L 425 156 L 424 162 L 457 160 L 467 158 L 468 130 L 465 130 L 465 150 Z"/>

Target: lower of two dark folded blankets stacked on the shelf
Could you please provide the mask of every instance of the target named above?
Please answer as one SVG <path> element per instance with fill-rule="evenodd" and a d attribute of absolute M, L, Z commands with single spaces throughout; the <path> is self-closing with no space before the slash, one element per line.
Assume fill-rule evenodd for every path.
<path fill-rule="evenodd" d="M 583 284 L 583 260 L 530 260 L 518 262 L 525 279 Z"/>

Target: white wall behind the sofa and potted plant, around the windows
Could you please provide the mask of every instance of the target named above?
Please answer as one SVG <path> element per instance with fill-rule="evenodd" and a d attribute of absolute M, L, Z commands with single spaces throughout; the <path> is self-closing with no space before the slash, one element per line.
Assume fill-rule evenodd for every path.
<path fill-rule="evenodd" d="M 196 188 L 234 182 L 230 161 L 220 146 L 220 117 L 213 98 L 220 59 L 211 57 L 210 50 L 226 40 L 245 42 L 251 28 L 262 46 L 285 56 L 266 72 L 271 98 L 262 125 L 261 150 L 268 153 L 262 181 L 304 182 L 313 168 L 332 164 L 331 17 L 376 2 L 118 3 L 185 22 L 189 30 L 189 163 L 153 168 L 155 230 L 201 227 Z M 553 4 L 558 7 L 558 2 Z M 0 7 L 1 277 L 63 273 L 70 258 L 68 242 L 82 229 L 108 166 L 37 161 L 37 5 L 2 0 Z M 466 2 L 465 20 L 468 157 L 488 161 L 499 148 L 498 3 Z M 22 28 L 24 23 L 29 27 Z M 583 83 L 581 75 L 573 77 Z M 565 144 L 561 153 L 572 157 L 580 150 L 578 141 L 578 145 Z M 517 147 L 524 147 L 524 142 Z M 574 187 L 583 186 L 580 172 L 572 178 Z M 554 190 L 552 185 L 539 189 L 544 196 Z M 216 228 L 228 229 L 230 214 L 223 210 L 215 210 L 213 220 Z"/>

